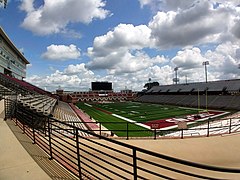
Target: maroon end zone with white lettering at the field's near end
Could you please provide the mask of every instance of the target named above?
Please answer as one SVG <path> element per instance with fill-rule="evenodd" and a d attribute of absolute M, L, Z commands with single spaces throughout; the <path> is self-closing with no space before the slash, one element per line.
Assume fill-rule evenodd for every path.
<path fill-rule="evenodd" d="M 184 118 L 168 118 L 168 119 L 160 119 L 154 121 L 148 121 L 144 124 L 150 126 L 151 129 L 160 129 L 160 128 L 168 128 L 171 126 L 176 126 L 178 122 L 185 121 L 185 122 L 194 122 L 194 121 L 203 121 L 209 118 L 217 117 L 226 114 L 223 111 L 208 111 L 208 112 L 201 112 L 199 114 L 191 114 L 187 115 Z"/>

